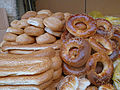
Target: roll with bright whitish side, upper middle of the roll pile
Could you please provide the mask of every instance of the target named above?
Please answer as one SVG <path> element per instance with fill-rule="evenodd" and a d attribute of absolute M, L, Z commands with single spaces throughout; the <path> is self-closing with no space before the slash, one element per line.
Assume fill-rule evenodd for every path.
<path fill-rule="evenodd" d="M 43 25 L 43 19 L 41 18 L 36 18 L 36 17 L 30 17 L 27 22 L 33 26 L 44 28 Z"/>

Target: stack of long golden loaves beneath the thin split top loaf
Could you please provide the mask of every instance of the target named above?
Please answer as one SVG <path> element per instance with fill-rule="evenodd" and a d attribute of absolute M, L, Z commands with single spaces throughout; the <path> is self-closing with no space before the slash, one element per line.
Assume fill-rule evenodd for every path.
<path fill-rule="evenodd" d="M 0 90 L 43 90 L 61 78 L 59 51 L 52 48 L 26 55 L 0 54 Z"/>

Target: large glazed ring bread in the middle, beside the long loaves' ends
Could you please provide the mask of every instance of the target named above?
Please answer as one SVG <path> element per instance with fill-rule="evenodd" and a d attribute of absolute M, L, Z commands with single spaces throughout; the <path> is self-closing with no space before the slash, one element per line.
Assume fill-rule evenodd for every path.
<path fill-rule="evenodd" d="M 80 67 L 87 62 L 90 54 L 91 46 L 88 41 L 75 37 L 62 45 L 60 56 L 66 64 L 73 67 Z"/>

